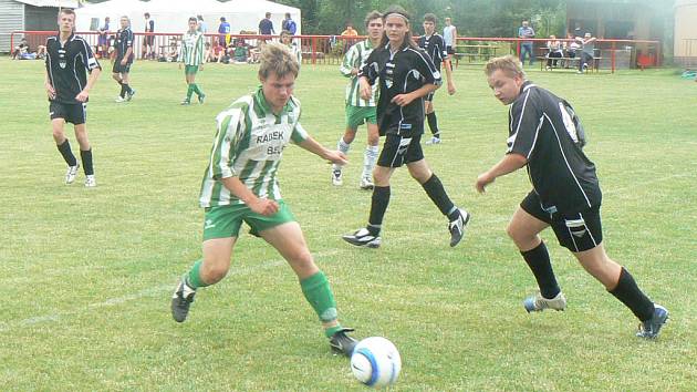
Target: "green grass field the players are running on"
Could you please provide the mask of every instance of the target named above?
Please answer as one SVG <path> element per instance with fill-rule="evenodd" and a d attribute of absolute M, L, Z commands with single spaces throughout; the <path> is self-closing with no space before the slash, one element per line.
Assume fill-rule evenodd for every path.
<path fill-rule="evenodd" d="M 111 65 L 104 64 L 111 71 Z M 134 101 L 116 104 L 103 74 L 89 131 L 98 187 L 65 165 L 51 137 L 42 63 L 0 60 L 0 386 L 2 390 L 362 390 L 333 357 L 290 268 L 245 234 L 230 275 L 201 290 L 175 323 L 169 298 L 200 255 L 197 196 L 214 118 L 258 83 L 256 68 L 199 73 L 205 105 L 180 107 L 176 65 L 138 62 Z M 586 152 L 604 190 L 605 246 L 670 311 L 657 341 L 634 337 L 632 313 L 545 233 L 569 299 L 565 312 L 527 314 L 534 279 L 504 228 L 530 186 L 523 172 L 487 195 L 472 184 L 504 152 L 507 107 L 479 69 L 455 71 L 458 93 L 436 97 L 445 143 L 427 161 L 474 219 L 457 248 L 446 220 L 399 171 L 383 247 L 340 236 L 365 224 L 357 189 L 365 135 L 345 185 L 298 147 L 285 151 L 281 187 L 330 277 L 345 324 L 400 350 L 399 391 L 694 390 L 697 385 L 697 86 L 675 72 L 541 73 L 589 132 Z M 295 95 L 303 125 L 325 145 L 343 128 L 345 80 L 304 65 Z M 69 132 L 73 149 L 77 144 Z"/>

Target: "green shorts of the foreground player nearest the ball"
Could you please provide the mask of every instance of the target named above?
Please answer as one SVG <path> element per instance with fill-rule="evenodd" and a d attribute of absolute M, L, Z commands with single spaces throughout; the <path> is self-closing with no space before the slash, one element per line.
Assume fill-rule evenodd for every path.
<path fill-rule="evenodd" d="M 239 237 L 242 221 L 249 225 L 251 228 L 249 233 L 254 236 L 259 236 L 259 233 L 266 229 L 288 221 L 295 221 L 293 213 L 285 203 L 283 200 L 278 200 L 278 203 L 279 210 L 271 216 L 257 214 L 245 204 L 207 207 L 204 220 L 204 240 Z"/>

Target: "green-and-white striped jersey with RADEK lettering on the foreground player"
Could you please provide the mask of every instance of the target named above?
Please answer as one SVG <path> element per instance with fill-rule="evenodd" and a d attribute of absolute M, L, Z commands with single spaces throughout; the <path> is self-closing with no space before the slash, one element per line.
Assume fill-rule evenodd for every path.
<path fill-rule="evenodd" d="M 216 117 L 218 132 L 201 184 L 201 207 L 243 204 L 222 185 L 238 177 L 260 198 L 281 199 L 275 174 L 288 143 L 302 143 L 308 133 L 300 125 L 300 101 L 291 96 L 277 116 L 261 87 L 235 101 Z"/>

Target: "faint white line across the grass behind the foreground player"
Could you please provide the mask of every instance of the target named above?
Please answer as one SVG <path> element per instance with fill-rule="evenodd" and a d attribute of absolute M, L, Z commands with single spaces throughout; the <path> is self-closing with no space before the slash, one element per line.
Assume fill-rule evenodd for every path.
<path fill-rule="evenodd" d="M 315 259 L 322 258 L 322 257 L 327 257 L 327 256 L 334 256 L 336 254 L 339 254 L 342 249 L 331 249 L 331 250 L 325 250 L 325 251 L 320 251 L 313 255 L 313 257 Z M 269 269 L 269 268 L 275 268 L 279 266 L 283 266 L 285 265 L 287 261 L 283 259 L 274 259 L 274 260 L 267 260 L 263 261 L 259 265 L 256 266 L 250 266 L 250 267 L 241 267 L 241 268 L 235 268 L 235 266 L 232 266 L 232 268 L 230 268 L 230 271 L 228 274 L 228 276 L 245 276 L 245 275 L 251 275 L 251 274 L 256 274 L 260 270 L 263 269 Z M 17 329 L 17 328 L 22 328 L 22 327 L 29 327 L 29 326 L 34 326 L 34 324 L 39 324 L 39 323 L 44 323 L 44 322 L 52 322 L 52 321 L 60 321 L 61 319 L 71 319 L 73 317 L 77 317 L 77 316 L 82 316 L 85 314 L 87 312 L 93 311 L 94 309 L 100 309 L 100 308 L 107 308 L 107 307 L 113 307 L 116 305 L 122 305 L 122 303 L 126 303 L 129 301 L 135 301 L 142 298 L 146 298 L 146 297 L 155 297 L 155 296 L 160 296 L 163 292 L 167 292 L 169 290 L 173 290 L 175 288 L 175 281 L 168 283 L 168 285 L 163 285 L 163 286 L 158 286 L 158 287 L 149 287 L 146 289 L 143 289 L 141 291 L 134 292 L 134 293 L 129 293 L 123 297 L 115 297 L 115 298 L 107 298 L 104 301 L 101 302 L 93 302 L 93 303 L 89 303 L 87 306 L 83 307 L 83 308 L 79 308 L 79 309 L 74 309 L 74 310 L 66 310 L 63 312 L 55 312 L 55 313 L 50 313 L 50 314 L 43 314 L 43 316 L 34 316 L 34 317 L 30 317 L 28 319 L 23 319 L 23 320 L 17 320 L 17 321 L 10 321 L 10 322 L 0 322 L 0 333 L 1 332 L 7 332 L 10 331 L 12 329 Z"/>

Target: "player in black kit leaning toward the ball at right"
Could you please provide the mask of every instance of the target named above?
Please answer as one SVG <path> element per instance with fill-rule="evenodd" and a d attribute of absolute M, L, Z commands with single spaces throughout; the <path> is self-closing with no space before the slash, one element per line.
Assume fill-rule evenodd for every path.
<path fill-rule="evenodd" d="M 561 246 L 641 320 L 637 337 L 653 339 L 668 319 L 668 311 L 638 288 L 630 272 L 603 247 L 600 207 L 602 194 L 595 165 L 583 153 L 585 135 L 571 105 L 528 80 L 520 61 L 507 55 L 487 63 L 486 74 L 495 96 L 509 110 L 506 156 L 479 175 L 479 193 L 497 177 L 527 166 L 532 192 L 522 200 L 508 226 L 540 292 L 523 301 L 526 310 L 564 310 L 566 299 L 552 270 L 539 234 L 552 227 Z"/>

